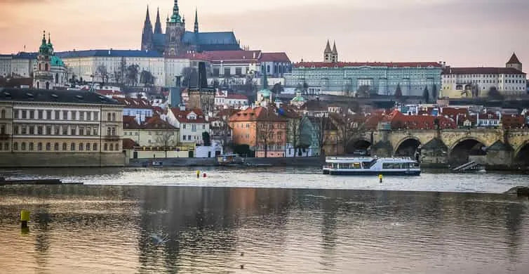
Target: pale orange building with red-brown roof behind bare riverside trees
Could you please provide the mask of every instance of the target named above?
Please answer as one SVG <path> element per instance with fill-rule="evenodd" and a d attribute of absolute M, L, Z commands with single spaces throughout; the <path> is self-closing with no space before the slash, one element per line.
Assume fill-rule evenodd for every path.
<path fill-rule="evenodd" d="M 255 157 L 285 157 L 286 124 L 275 107 L 249 107 L 229 118 L 235 145 L 249 145 Z"/>

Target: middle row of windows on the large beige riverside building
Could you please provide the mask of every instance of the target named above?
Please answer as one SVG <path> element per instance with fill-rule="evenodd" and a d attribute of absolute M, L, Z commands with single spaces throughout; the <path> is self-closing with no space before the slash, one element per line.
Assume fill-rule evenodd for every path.
<path fill-rule="evenodd" d="M 1 125 L 0 131 L 4 131 L 4 125 Z M 114 128 L 115 133 L 115 128 Z M 72 126 L 72 125 L 18 125 L 13 126 L 13 134 L 22 135 L 79 135 L 79 136 L 98 136 L 99 126 Z M 110 135 L 110 134 L 108 134 Z"/>

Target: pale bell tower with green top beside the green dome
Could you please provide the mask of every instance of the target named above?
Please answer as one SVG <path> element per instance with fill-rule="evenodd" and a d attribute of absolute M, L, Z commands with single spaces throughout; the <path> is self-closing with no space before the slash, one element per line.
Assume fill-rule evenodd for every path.
<path fill-rule="evenodd" d="M 39 55 L 36 57 L 33 72 L 33 87 L 35 89 L 53 89 L 53 74 L 51 73 L 53 46 L 49 35 L 48 43 L 46 43 L 46 32 L 42 34 L 42 44 L 39 48 Z"/>

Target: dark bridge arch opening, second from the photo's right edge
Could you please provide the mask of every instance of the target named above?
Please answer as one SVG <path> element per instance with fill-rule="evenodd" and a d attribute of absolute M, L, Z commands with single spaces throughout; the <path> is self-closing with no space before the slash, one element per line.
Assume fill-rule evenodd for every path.
<path fill-rule="evenodd" d="M 452 165 L 469 162 L 471 155 L 486 155 L 486 142 L 474 136 L 465 136 L 458 139 L 448 150 L 448 161 Z"/>

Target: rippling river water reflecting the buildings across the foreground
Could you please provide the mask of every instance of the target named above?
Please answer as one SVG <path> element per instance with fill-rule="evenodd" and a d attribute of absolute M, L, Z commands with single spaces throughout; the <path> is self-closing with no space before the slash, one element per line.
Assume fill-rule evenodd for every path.
<path fill-rule="evenodd" d="M 0 187 L 0 273 L 529 273 L 526 175 L 203 171 L 2 171 L 88 185 Z"/>

